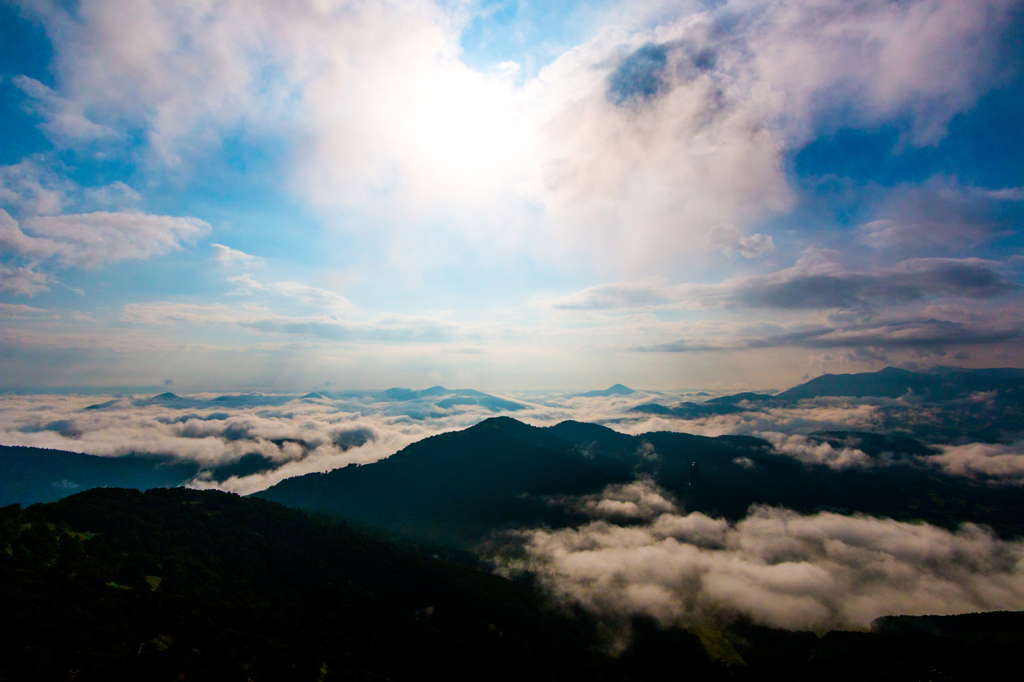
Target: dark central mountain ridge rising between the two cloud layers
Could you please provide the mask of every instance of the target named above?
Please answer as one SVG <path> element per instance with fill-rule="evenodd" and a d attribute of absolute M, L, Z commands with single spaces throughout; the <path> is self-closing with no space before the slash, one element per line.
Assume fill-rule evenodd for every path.
<path fill-rule="evenodd" d="M 431 542 L 472 545 L 496 528 L 572 522 L 578 519 L 570 508 L 553 504 L 557 498 L 646 475 L 688 511 L 731 519 L 742 518 L 753 504 L 767 504 L 945 527 L 975 521 L 1024 535 L 1024 491 L 944 476 L 922 463 L 935 451 L 912 438 L 822 432 L 810 440 L 836 451 L 855 447 L 873 465 L 836 470 L 805 464 L 746 436 L 632 436 L 596 424 L 538 428 L 500 417 L 421 440 L 380 462 L 290 478 L 257 496 Z"/>

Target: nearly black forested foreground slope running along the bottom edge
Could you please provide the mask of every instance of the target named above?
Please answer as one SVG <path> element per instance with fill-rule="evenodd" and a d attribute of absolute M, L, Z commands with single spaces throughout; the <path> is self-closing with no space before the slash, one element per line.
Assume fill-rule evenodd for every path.
<path fill-rule="evenodd" d="M 1000 679 L 1024 614 L 824 636 L 636 617 L 620 654 L 528 585 L 263 500 L 94 489 L 0 508 L 0 679 Z M 625 624 L 621 624 L 625 625 Z"/>

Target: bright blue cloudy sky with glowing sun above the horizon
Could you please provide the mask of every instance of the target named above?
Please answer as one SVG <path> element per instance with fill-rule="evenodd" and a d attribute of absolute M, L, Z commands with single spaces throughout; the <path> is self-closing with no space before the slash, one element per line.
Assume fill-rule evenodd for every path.
<path fill-rule="evenodd" d="M 1024 3 L 0 4 L 0 389 L 1024 367 Z"/>

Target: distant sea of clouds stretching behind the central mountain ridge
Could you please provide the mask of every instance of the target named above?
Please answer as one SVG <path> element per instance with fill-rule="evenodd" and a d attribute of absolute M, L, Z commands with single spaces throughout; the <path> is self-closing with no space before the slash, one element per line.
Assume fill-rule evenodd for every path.
<path fill-rule="evenodd" d="M 885 457 L 868 457 L 854 436 L 836 441 L 811 434 L 897 432 L 920 437 L 918 431 L 922 431 L 941 435 L 943 420 L 952 419 L 948 407 L 888 398 L 815 398 L 785 407 L 743 401 L 733 414 L 678 419 L 631 409 L 652 400 L 694 399 L 692 395 L 646 391 L 599 397 L 550 392 L 503 395 L 521 406 L 512 413 L 464 404 L 450 399 L 447 394 L 416 399 L 386 399 L 380 393 L 311 395 L 315 397 L 6 394 L 0 396 L 0 444 L 104 457 L 130 453 L 173 455 L 201 465 L 203 472 L 196 485 L 246 494 L 291 476 L 329 471 L 349 463 L 375 462 L 427 436 L 463 429 L 497 414 L 511 414 L 537 426 L 565 420 L 592 422 L 634 435 L 649 431 L 751 435 L 768 440 L 774 452 L 807 466 L 834 469 L 887 466 L 892 462 Z M 954 416 L 963 419 L 958 413 Z M 1020 434 L 1002 443 L 952 444 L 954 438 L 945 443 L 940 439 L 935 456 L 902 463 L 933 466 L 948 475 L 993 484 L 1024 484 L 1024 447 L 1022 442 L 1009 444 L 1020 440 Z M 254 454 L 262 463 L 255 473 L 226 468 Z"/>

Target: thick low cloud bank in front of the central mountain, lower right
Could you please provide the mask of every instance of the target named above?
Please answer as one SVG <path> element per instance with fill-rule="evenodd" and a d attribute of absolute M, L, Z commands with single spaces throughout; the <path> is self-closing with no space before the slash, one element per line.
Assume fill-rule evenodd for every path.
<path fill-rule="evenodd" d="M 649 481 L 580 505 L 590 523 L 512 536 L 502 571 L 535 572 L 557 599 L 612 622 L 862 629 L 883 615 L 1024 608 L 1024 543 L 966 523 L 754 507 L 737 523 L 687 514 Z"/>

